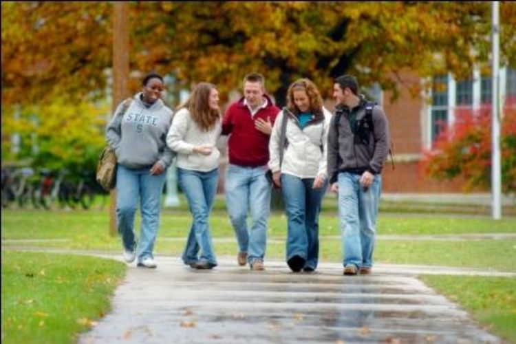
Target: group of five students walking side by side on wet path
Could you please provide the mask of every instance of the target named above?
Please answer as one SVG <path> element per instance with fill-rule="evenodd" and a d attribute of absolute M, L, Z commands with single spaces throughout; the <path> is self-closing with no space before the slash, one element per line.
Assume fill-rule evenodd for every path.
<path fill-rule="evenodd" d="M 264 76 L 244 77 L 244 96 L 224 116 L 217 87 L 197 84 L 186 103 L 173 111 L 160 99 L 164 80 L 147 74 L 142 91 L 122 102 L 106 136 L 118 161 L 116 215 L 127 263 L 155 268 L 166 168 L 177 160 L 180 187 L 193 218 L 184 264 L 217 266 L 209 215 L 217 191 L 219 136 L 228 136 L 226 208 L 235 230 L 240 266 L 264 270 L 272 187 L 286 206 L 286 261 L 293 272 L 313 272 L 319 258 L 319 213 L 325 191 L 338 193 L 343 273 L 371 272 L 381 171 L 389 151 L 383 110 L 359 93 L 354 76 L 334 80 L 336 113 L 323 107 L 319 90 L 301 78 L 288 88 L 279 109 L 265 91 Z M 140 239 L 134 230 L 136 206 L 142 214 Z M 248 225 L 248 214 L 250 224 Z"/>

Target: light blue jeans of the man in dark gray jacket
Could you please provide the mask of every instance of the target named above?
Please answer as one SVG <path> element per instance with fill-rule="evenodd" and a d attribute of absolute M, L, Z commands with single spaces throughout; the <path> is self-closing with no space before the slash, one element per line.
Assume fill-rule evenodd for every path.
<path fill-rule="evenodd" d="M 343 264 L 373 265 L 376 217 L 382 190 L 382 176 L 375 175 L 367 191 L 361 175 L 338 173 L 338 216 L 341 219 Z"/>

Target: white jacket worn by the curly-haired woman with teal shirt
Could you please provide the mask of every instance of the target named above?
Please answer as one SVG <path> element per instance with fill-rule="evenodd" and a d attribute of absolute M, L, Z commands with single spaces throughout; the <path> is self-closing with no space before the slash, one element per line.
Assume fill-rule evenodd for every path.
<path fill-rule="evenodd" d="M 286 114 L 287 112 L 287 114 Z M 332 114 L 323 107 L 324 118 L 311 120 L 301 129 L 297 117 L 282 110 L 276 120 L 269 141 L 269 169 L 272 172 L 294 175 L 299 178 L 327 178 L 327 135 Z M 279 139 L 283 116 L 288 116 L 286 127 L 286 149 L 279 166 Z"/>

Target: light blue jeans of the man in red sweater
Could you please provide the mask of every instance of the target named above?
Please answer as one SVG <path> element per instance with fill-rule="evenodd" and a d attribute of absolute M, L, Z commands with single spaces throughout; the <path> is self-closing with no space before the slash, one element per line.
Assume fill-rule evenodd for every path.
<path fill-rule="evenodd" d="M 264 166 L 244 167 L 230 164 L 226 171 L 226 206 L 240 252 L 248 253 L 248 262 L 264 260 L 267 243 L 267 220 L 272 186 L 265 177 Z M 250 208 L 252 224 L 248 230 Z"/>

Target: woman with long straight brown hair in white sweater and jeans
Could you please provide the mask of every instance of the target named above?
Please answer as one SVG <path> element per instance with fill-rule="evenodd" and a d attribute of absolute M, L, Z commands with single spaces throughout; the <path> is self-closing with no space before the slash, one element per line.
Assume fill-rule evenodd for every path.
<path fill-rule="evenodd" d="M 178 154 L 179 184 L 193 217 L 182 259 L 197 269 L 217 266 L 208 217 L 219 180 L 215 143 L 221 130 L 219 93 L 215 85 L 199 83 L 175 113 L 166 136 L 166 144 Z"/>

